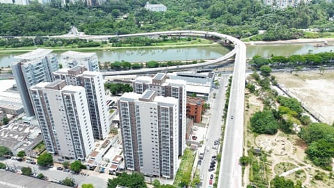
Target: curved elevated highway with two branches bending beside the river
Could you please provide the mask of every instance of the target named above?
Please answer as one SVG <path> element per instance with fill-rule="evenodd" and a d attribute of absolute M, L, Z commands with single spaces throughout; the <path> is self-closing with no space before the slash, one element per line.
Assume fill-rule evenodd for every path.
<path fill-rule="evenodd" d="M 83 38 L 88 40 L 108 40 L 109 38 L 125 38 L 134 36 L 160 36 L 160 35 L 180 35 L 180 36 L 214 36 L 222 40 L 229 40 L 234 44 L 234 49 L 220 58 L 205 63 L 191 65 L 178 65 L 167 68 L 145 68 L 140 70 L 126 70 L 117 72 L 103 72 L 108 75 L 132 75 L 147 72 L 159 72 L 164 70 L 182 70 L 187 68 L 200 68 L 215 63 L 221 63 L 235 55 L 234 72 L 230 91 L 230 103 L 226 119 L 223 150 L 221 153 L 221 167 L 219 169 L 218 187 L 230 188 L 241 187 L 241 166 L 239 158 L 242 156 L 244 139 L 244 88 L 246 70 L 246 45 L 241 40 L 232 36 L 216 32 L 207 31 L 163 31 L 153 33 L 136 33 L 128 35 L 113 36 L 54 36 L 54 38 Z M 216 117 L 218 118 L 218 117 Z M 206 186 L 206 185 L 205 185 Z"/>

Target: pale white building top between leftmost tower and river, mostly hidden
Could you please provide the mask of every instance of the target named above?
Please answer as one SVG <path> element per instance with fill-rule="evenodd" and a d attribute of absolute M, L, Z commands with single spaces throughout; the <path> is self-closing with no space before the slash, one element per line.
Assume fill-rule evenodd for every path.
<path fill-rule="evenodd" d="M 95 52 L 84 53 L 67 51 L 61 54 L 59 60 L 63 68 L 74 68 L 77 65 L 84 66 L 89 71 L 99 71 L 99 61 Z"/>

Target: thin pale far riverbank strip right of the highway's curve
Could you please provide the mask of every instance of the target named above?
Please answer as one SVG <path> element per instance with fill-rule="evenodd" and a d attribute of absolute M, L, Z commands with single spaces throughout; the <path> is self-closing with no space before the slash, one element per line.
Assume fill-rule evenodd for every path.
<path fill-rule="evenodd" d="M 299 38 L 294 40 L 277 40 L 277 41 L 250 41 L 244 42 L 246 45 L 298 45 L 298 44 L 312 44 L 334 42 L 334 38 Z"/>

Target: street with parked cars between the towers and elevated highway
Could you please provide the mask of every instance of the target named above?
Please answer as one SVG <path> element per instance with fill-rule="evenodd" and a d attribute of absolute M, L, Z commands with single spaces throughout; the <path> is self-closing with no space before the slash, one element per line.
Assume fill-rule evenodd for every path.
<path fill-rule="evenodd" d="M 223 109 L 225 105 L 225 85 L 228 84 L 229 76 L 225 75 L 221 77 L 219 81 L 219 88 L 216 92 L 216 99 L 214 100 L 211 107 L 211 118 L 209 121 L 209 126 L 207 128 L 207 134 L 205 139 L 205 146 L 209 146 L 209 152 L 205 152 L 204 159 L 202 159 L 202 164 L 200 165 L 200 174 L 204 176 L 202 181 L 202 187 L 207 187 L 209 185 L 210 175 L 214 174 L 216 171 L 209 172 L 209 166 L 213 155 L 217 155 L 218 150 L 214 150 L 214 140 L 217 140 L 221 137 L 221 125 L 223 123 Z"/>

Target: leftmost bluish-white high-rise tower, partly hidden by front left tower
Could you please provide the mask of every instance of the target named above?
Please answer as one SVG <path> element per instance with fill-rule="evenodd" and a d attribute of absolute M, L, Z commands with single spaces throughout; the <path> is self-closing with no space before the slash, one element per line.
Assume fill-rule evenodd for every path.
<path fill-rule="evenodd" d="M 43 81 L 51 82 L 53 80 L 51 73 L 58 70 L 57 55 L 51 52 L 51 49 L 35 49 L 15 56 L 19 61 L 11 65 L 26 116 L 34 116 L 29 88 Z"/>

